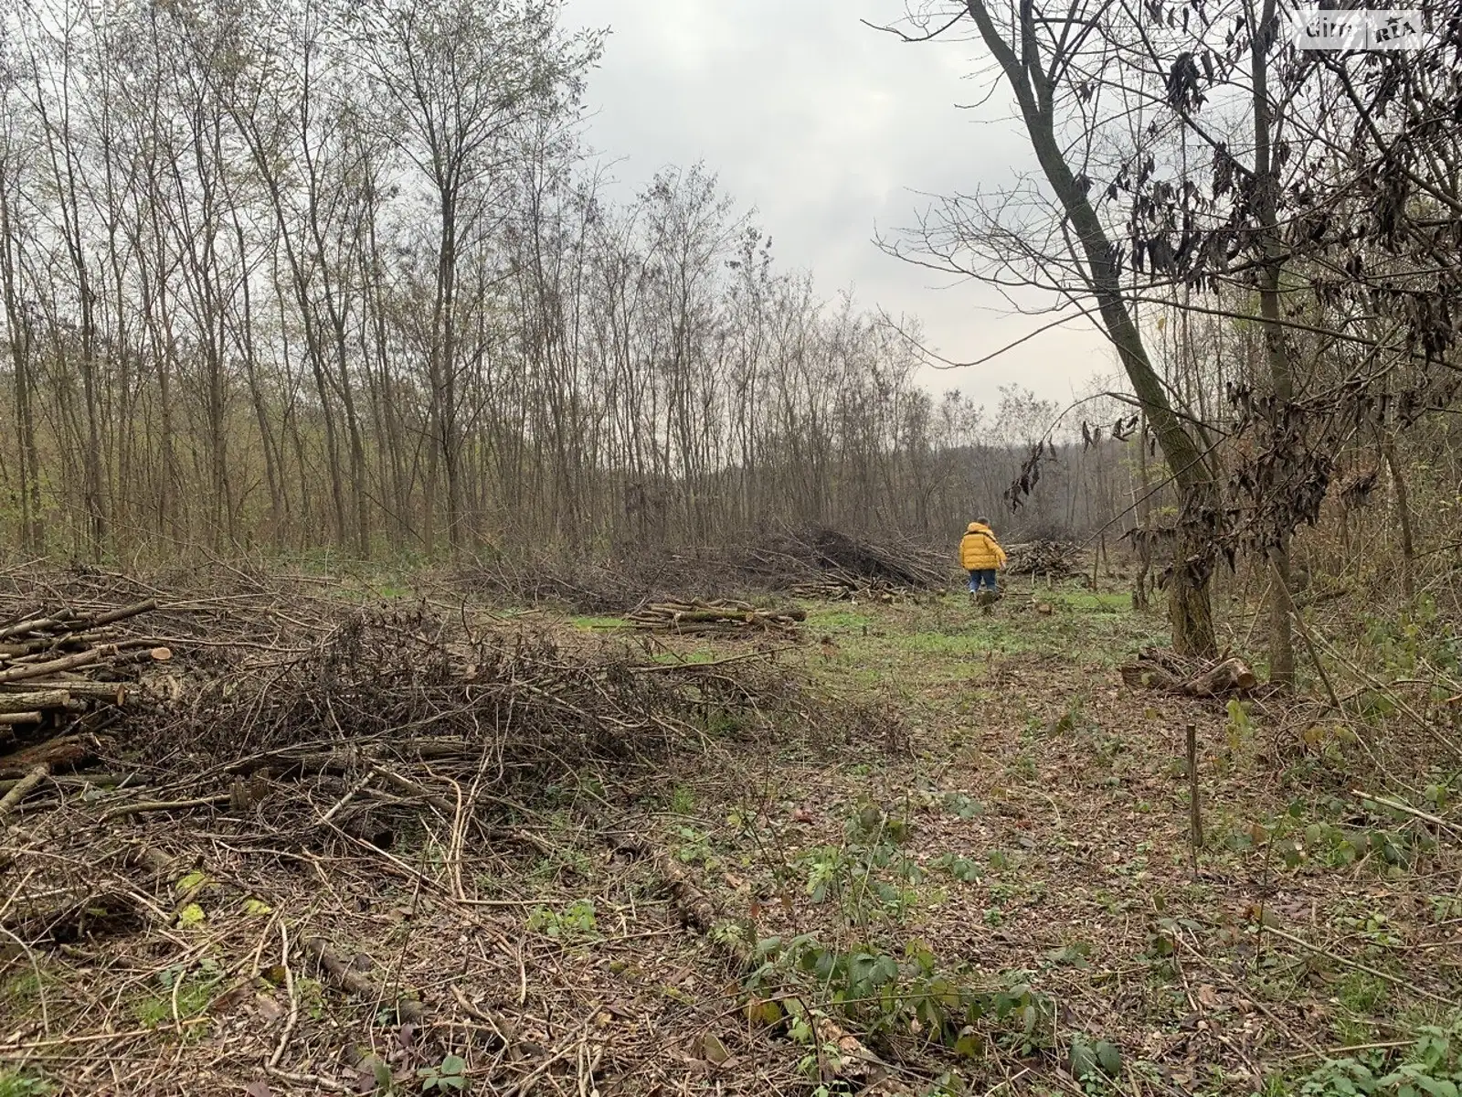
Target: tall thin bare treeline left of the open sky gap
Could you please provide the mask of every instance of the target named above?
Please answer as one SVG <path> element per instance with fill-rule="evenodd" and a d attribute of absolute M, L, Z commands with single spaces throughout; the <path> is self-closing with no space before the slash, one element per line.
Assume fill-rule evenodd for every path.
<path fill-rule="evenodd" d="M 6 538 L 83 559 L 946 538 L 996 508 L 1056 410 L 921 388 L 906 333 L 779 271 L 705 168 L 611 200 L 577 133 L 601 39 L 560 15 L 10 13 Z M 1117 449 L 1070 448 L 1026 524 L 1120 513 Z"/>

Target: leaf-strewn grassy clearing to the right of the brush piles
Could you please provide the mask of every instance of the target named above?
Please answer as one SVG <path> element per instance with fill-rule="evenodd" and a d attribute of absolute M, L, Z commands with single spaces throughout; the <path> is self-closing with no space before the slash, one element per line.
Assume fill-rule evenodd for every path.
<path fill-rule="evenodd" d="M 702 841 L 741 866 L 734 932 L 779 977 L 814 973 L 885 1047 L 933 1038 L 946 1093 L 988 1088 L 997 1062 L 1064 1063 L 1054 1091 L 1452 1093 L 1462 965 L 1440 916 L 1462 914 L 1431 892 L 1455 886 L 1455 845 L 1336 796 L 1367 759 L 1311 750 L 1298 712 L 1127 693 L 1111 668 L 1162 623 L 1126 595 L 1039 598 L 1053 613 L 1016 597 L 813 613 L 836 645 L 808 657 L 813 689 L 889 702 L 912 749 L 784 755 L 734 802 L 724 768 L 681 778 Z M 759 825 L 718 826 L 728 807 Z"/>

